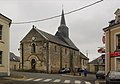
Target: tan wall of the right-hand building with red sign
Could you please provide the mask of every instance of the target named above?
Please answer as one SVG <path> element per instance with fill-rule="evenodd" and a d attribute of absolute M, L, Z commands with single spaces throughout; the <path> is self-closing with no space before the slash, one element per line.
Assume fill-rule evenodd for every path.
<path fill-rule="evenodd" d="M 115 65 L 115 59 L 116 57 L 110 57 L 110 53 L 116 51 L 116 35 L 120 34 L 120 25 L 113 26 L 110 29 L 110 32 L 106 32 L 106 67 L 105 70 L 108 72 L 109 70 L 116 70 Z M 110 38 L 110 39 L 109 39 Z M 110 46 L 109 46 L 110 45 Z"/>

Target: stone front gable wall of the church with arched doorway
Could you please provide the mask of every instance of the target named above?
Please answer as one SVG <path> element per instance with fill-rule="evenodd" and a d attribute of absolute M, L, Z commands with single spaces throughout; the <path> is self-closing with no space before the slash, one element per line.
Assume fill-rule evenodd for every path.
<path fill-rule="evenodd" d="M 32 42 L 32 37 L 36 37 L 35 41 Z M 32 53 L 32 43 L 35 44 L 36 50 L 35 53 Z M 39 35 L 37 32 L 32 30 L 30 34 L 28 34 L 23 42 L 21 43 L 21 68 L 22 68 L 22 56 L 23 56 L 23 69 L 30 70 L 31 69 L 31 61 L 35 59 L 36 61 L 36 70 L 46 71 L 46 53 L 47 48 L 44 46 L 46 44 L 46 40 Z"/>

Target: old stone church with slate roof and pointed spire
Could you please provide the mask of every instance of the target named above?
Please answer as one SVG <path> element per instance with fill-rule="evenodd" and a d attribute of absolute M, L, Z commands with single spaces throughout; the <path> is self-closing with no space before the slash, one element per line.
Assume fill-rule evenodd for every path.
<path fill-rule="evenodd" d="M 80 67 L 79 49 L 69 38 L 64 11 L 55 35 L 35 26 L 20 41 L 20 62 L 23 70 L 51 73 L 68 67 L 72 71 Z"/>

